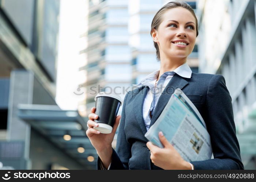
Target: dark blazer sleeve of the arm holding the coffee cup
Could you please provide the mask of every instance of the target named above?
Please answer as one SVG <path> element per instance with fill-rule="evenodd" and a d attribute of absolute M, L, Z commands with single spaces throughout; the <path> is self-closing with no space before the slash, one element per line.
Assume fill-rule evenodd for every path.
<path fill-rule="evenodd" d="M 130 92 L 130 91 L 129 91 Z M 129 159 L 131 158 L 131 146 L 128 143 L 126 139 L 126 135 L 124 132 L 124 124 L 125 124 L 125 106 L 126 106 L 126 100 L 127 96 L 129 95 L 129 92 L 125 95 L 124 98 L 124 104 L 123 104 L 123 110 L 121 114 L 121 119 L 119 123 L 119 129 L 117 134 L 117 144 L 116 144 L 116 150 L 113 150 L 112 153 L 112 161 L 110 165 L 111 169 L 129 169 Z M 101 169 L 100 165 L 101 159 L 98 157 L 97 159 L 97 169 Z"/>

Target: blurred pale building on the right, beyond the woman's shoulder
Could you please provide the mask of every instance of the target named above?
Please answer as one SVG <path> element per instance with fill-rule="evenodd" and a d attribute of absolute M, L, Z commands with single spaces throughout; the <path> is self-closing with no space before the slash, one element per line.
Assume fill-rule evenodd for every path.
<path fill-rule="evenodd" d="M 230 92 L 245 169 L 256 169 L 256 1 L 199 0 L 199 72 Z"/>

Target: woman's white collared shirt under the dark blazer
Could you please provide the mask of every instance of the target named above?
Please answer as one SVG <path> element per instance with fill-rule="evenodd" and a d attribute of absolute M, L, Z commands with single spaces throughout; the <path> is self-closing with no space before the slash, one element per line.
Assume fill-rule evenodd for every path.
<path fill-rule="evenodd" d="M 176 74 L 178 74 L 184 78 L 191 78 L 192 71 L 187 63 L 182 64 L 181 66 L 179 66 L 178 68 L 176 68 L 173 71 Z M 150 122 L 151 122 L 151 119 L 148 116 L 148 111 L 150 110 L 151 102 L 153 101 L 152 88 L 155 86 L 155 82 L 158 78 L 159 72 L 160 72 L 160 70 L 154 71 L 153 73 L 147 75 L 139 84 L 133 85 L 133 86 L 144 85 L 144 86 L 148 86 L 150 88 L 150 89 L 148 89 L 148 93 L 147 93 L 144 103 L 143 103 L 143 119 L 144 119 L 144 123 L 145 123 L 147 130 L 148 130 Z M 166 87 L 166 85 L 170 82 L 172 77 L 173 77 L 173 75 L 166 77 L 165 82 L 163 83 L 163 88 L 161 90 L 161 93 L 164 90 L 164 88 Z"/>

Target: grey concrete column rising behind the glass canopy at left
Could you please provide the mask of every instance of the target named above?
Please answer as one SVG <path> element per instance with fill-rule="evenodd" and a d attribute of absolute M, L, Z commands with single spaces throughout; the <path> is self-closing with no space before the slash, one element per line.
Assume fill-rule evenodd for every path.
<path fill-rule="evenodd" d="M 7 140 L 23 141 L 25 143 L 25 160 L 29 160 L 30 125 L 18 117 L 18 104 L 32 104 L 33 84 L 34 74 L 32 72 L 26 70 L 14 70 L 11 72 Z"/>

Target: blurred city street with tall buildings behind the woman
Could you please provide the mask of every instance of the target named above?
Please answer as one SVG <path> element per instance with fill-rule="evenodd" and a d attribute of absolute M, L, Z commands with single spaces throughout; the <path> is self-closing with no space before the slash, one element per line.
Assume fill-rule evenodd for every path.
<path fill-rule="evenodd" d="M 168 2 L 0 0 L 0 169 L 96 169 L 90 88 L 124 99 L 159 69 L 151 21 Z M 199 23 L 188 65 L 224 76 L 242 162 L 256 169 L 256 0 L 186 2 Z"/>

